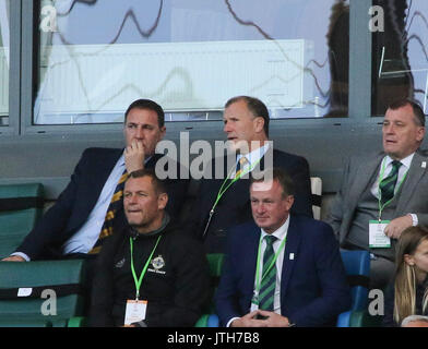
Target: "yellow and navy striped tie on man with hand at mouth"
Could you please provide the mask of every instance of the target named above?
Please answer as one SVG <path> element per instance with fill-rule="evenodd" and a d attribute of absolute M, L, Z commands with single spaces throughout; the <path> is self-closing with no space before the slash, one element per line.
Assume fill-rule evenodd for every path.
<path fill-rule="evenodd" d="M 98 240 L 96 241 L 92 250 L 88 252 L 90 254 L 99 253 L 104 239 L 111 236 L 114 232 L 112 231 L 114 219 L 117 210 L 120 208 L 120 205 L 122 204 L 124 182 L 127 181 L 127 179 L 128 179 L 128 172 L 127 170 L 124 170 L 118 181 L 118 184 L 116 185 L 115 193 L 112 194 L 110 204 L 108 205 L 106 218 L 104 220 L 102 231 L 99 232 Z"/>

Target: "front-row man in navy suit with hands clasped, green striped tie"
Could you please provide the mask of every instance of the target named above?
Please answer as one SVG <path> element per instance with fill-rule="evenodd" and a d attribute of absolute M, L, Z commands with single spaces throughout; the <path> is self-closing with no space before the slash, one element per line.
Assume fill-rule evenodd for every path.
<path fill-rule="evenodd" d="M 350 308 L 350 293 L 332 228 L 289 215 L 293 181 L 281 169 L 268 174 L 266 181 L 252 180 L 250 186 L 255 224 L 229 232 L 216 294 L 221 323 L 231 327 L 334 325 L 337 315 Z"/>

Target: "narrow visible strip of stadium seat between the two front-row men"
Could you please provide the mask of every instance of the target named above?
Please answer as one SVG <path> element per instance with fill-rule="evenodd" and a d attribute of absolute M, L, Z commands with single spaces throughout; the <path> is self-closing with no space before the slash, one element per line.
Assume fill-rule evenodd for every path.
<path fill-rule="evenodd" d="M 214 314 L 214 294 L 217 289 L 219 277 L 222 275 L 222 267 L 224 261 L 223 253 L 209 253 L 206 254 L 210 265 L 210 276 L 211 276 L 211 302 L 204 314 L 198 320 L 195 327 L 218 327 L 218 317 Z"/>

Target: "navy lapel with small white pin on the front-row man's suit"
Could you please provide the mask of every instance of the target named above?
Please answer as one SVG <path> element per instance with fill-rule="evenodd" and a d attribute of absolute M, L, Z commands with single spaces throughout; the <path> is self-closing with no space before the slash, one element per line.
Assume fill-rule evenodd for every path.
<path fill-rule="evenodd" d="M 284 303 L 284 296 L 289 285 L 289 279 L 298 257 L 301 234 L 299 233 L 298 219 L 290 216 L 287 231 L 287 241 L 285 242 L 283 270 L 281 273 L 281 304 Z"/>

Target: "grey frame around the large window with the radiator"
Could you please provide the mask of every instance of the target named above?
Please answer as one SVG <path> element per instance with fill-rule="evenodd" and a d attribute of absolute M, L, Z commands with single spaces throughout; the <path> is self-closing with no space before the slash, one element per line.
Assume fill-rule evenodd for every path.
<path fill-rule="evenodd" d="M 11 121 L 19 123 L 21 130 L 19 134 L 87 134 L 87 133 L 110 133 L 122 129 L 119 123 L 96 123 L 96 124 L 59 124 L 59 125 L 34 125 L 33 124 L 33 86 L 36 76 L 37 50 L 33 49 L 38 35 L 38 5 L 32 0 L 22 0 L 22 67 L 21 67 L 21 113 L 14 112 L 15 118 Z M 21 2 L 19 0 L 17 2 Z M 371 117 L 371 33 L 368 29 L 370 20 L 369 8 L 371 0 L 349 0 L 349 100 L 348 116 L 342 118 L 301 118 L 301 119 L 272 119 L 275 128 L 301 129 L 325 128 L 337 124 L 361 124 L 378 123 L 377 118 Z M 16 39 L 16 34 L 14 34 Z M 16 56 L 16 53 L 15 53 Z M 19 56 L 19 55 L 17 55 Z M 14 60 L 11 60 L 14 61 Z M 20 61 L 20 60 L 19 60 Z M 31 79 L 29 79 L 31 77 Z M 16 84 L 16 82 L 14 82 Z M 12 94 L 14 95 L 14 94 Z M 21 118 L 20 118 L 21 117 Z M 13 120 L 11 120 L 13 119 Z M 371 120 L 374 119 L 374 120 Z M 201 134 L 212 134 L 213 130 L 218 131 L 223 127 L 222 121 L 174 121 L 167 122 L 167 130 L 170 132 L 190 131 Z M 16 134 L 16 133 L 15 133 Z"/>

